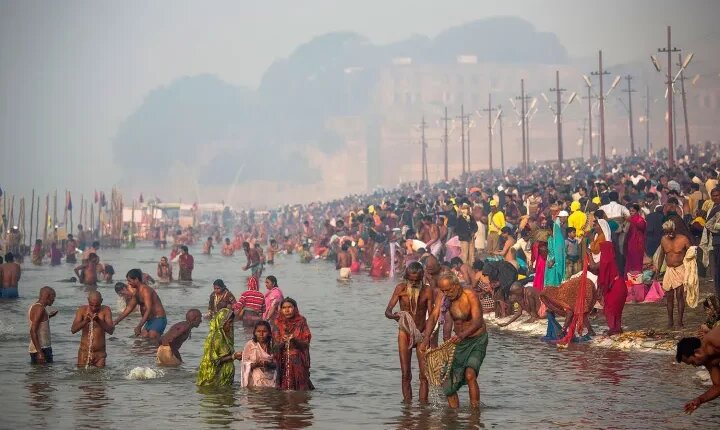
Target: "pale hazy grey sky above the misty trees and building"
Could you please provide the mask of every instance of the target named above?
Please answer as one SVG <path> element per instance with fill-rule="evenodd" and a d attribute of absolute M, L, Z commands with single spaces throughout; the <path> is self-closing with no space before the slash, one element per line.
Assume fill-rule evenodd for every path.
<path fill-rule="evenodd" d="M 320 34 L 354 31 L 384 44 L 497 15 L 556 33 L 571 56 L 603 48 L 610 64 L 647 58 L 668 24 L 680 47 L 720 40 L 713 0 L 2 0 L 0 187 L 87 193 L 118 182 L 118 125 L 178 77 L 211 73 L 256 87 L 275 59 Z"/>

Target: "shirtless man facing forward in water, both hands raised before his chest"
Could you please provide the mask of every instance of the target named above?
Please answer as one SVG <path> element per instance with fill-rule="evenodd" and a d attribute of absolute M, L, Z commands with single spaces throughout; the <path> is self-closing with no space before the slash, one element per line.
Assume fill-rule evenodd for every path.
<path fill-rule="evenodd" d="M 105 367 L 105 333 L 113 334 L 115 325 L 112 312 L 102 304 L 102 295 L 99 291 L 88 294 L 88 304 L 80 306 L 75 312 L 75 320 L 70 332 L 72 334 L 82 330 L 80 348 L 78 348 L 78 367 Z"/>

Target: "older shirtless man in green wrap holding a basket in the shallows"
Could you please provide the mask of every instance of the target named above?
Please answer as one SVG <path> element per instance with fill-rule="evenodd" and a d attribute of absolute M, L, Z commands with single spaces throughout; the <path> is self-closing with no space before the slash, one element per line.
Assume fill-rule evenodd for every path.
<path fill-rule="evenodd" d="M 449 313 L 453 320 L 455 335 L 448 339 L 454 343 L 455 358 L 448 370 L 448 378 L 443 384 L 443 391 L 448 398 L 448 406 L 456 409 L 460 405 L 457 392 L 467 384 L 470 391 L 470 406 L 480 407 L 480 387 L 477 374 L 487 351 L 488 334 L 483 319 L 480 300 L 473 290 L 462 288 L 457 276 L 443 273 L 438 280 L 441 294 L 435 299 L 435 305 L 425 324 L 425 332 L 419 349 L 425 353 L 428 348 L 429 335 L 440 318 L 443 301 L 449 301 Z"/>

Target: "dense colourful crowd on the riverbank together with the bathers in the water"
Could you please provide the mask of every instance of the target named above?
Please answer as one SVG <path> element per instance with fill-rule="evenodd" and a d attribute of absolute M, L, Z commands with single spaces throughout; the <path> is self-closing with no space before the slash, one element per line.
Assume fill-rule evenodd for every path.
<path fill-rule="evenodd" d="M 545 339 L 567 344 L 595 334 L 591 319 L 596 314 L 604 315 L 607 335 L 622 333 L 628 301 L 664 298 L 668 326 L 676 328 L 683 327 L 685 307 L 702 302 L 715 321 L 698 337 L 683 339 L 677 355 L 678 361 L 703 364 L 711 372 L 714 385 L 688 404 L 694 410 L 720 395 L 717 154 L 718 148 L 707 144 L 681 153 L 673 167 L 660 153 L 608 160 L 607 172 L 600 171 L 596 160 L 534 164 L 527 172 L 514 169 L 504 175 L 472 172 L 449 182 L 287 205 L 262 215 L 250 210 L 234 225 L 190 231 L 192 240 L 201 233 L 207 237 L 203 253 L 210 254 L 213 243 L 223 244 L 226 256 L 242 250 L 247 257 L 243 270 L 249 272 L 247 291 L 237 299 L 222 280 L 214 283 L 206 314 L 210 333 L 197 382 L 231 383 L 233 361 L 241 359 L 245 385 L 313 388 L 310 330 L 297 303 L 283 297 L 272 276 L 265 280 L 268 292 L 258 291 L 265 266 L 284 253 L 297 254 L 301 263 L 333 262 L 342 281 L 363 271 L 372 277 L 402 277 L 385 316 L 399 324 L 403 397 L 412 398 L 412 349 L 420 363 L 421 401 L 427 401 L 428 376 L 437 379 L 428 374 L 428 365 L 436 367 L 436 358 L 452 349 L 442 378 L 451 407 L 457 407 L 463 385 L 469 386 L 471 404 L 479 404 L 476 378 L 488 345 L 483 312 L 494 312 L 501 320 L 517 319 L 523 312 L 547 318 Z M 188 231 L 177 236 L 187 239 Z M 177 255 L 159 263 L 158 278 L 172 280 L 171 264 L 177 261 L 180 280 L 192 279 L 194 261 L 187 246 L 174 249 Z M 5 288 L 5 265 L 0 267 Z M 166 315 L 145 275 L 131 270 L 127 284 L 116 286 L 128 305 L 115 321 L 103 313 L 99 293 L 92 293 L 78 311 L 73 331 L 82 329 L 85 336 L 96 330 L 97 339 L 103 338 L 139 305 L 142 316 L 135 333 L 160 343 L 159 362 L 177 364 L 180 345 L 202 315 L 191 309 L 186 321 L 163 335 Z M 703 278 L 712 278 L 715 289 L 704 301 L 699 291 Z M 51 303 L 52 297 L 43 289 L 39 303 Z M 394 312 L 398 304 L 400 311 Z M 50 317 L 36 315 L 38 330 Z M 234 350 L 235 321 L 254 327 L 242 352 Z M 33 340 L 34 360 L 43 354 L 42 343 Z M 102 353 L 87 342 L 84 347 L 88 352 L 79 354 L 78 364 L 104 363 Z"/>

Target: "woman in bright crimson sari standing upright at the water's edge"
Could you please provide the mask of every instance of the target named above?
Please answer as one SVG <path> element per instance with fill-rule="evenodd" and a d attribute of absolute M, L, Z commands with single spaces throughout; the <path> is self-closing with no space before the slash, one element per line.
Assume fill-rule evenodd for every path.
<path fill-rule="evenodd" d="M 609 236 L 610 226 L 604 219 L 597 220 L 595 231 Z M 600 244 L 598 268 L 598 297 L 602 298 L 603 313 L 608 325 L 608 336 L 622 333 L 622 311 L 627 298 L 627 287 L 617 269 L 613 243 L 606 240 Z"/>

